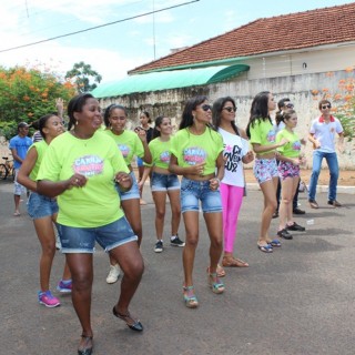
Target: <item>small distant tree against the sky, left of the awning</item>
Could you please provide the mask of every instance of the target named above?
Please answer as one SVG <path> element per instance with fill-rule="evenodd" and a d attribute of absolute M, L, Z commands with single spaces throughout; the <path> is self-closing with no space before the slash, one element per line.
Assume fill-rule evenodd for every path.
<path fill-rule="evenodd" d="M 89 92 L 98 87 L 95 82 L 100 83 L 102 77 L 90 64 L 79 62 L 74 64 L 72 70 L 67 72 L 65 79 L 72 80 L 79 92 Z"/>

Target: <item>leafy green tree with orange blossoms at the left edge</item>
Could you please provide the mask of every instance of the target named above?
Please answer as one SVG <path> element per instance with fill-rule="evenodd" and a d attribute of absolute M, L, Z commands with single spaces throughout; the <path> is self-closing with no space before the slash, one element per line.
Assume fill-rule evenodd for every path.
<path fill-rule="evenodd" d="M 0 67 L 0 135 L 14 135 L 21 121 L 31 123 L 57 111 L 55 99 L 68 102 L 75 88 L 50 70 Z"/>

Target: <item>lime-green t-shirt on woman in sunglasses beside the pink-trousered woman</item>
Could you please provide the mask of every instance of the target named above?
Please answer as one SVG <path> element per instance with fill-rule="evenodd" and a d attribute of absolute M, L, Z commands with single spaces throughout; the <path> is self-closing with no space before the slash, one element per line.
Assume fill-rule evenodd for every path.
<path fill-rule="evenodd" d="M 215 172 L 215 162 L 222 151 L 222 135 L 210 128 L 206 128 L 201 135 L 192 134 L 189 129 L 183 129 L 171 139 L 170 152 L 176 156 L 178 164 L 186 168 L 205 163 L 204 175 Z"/>

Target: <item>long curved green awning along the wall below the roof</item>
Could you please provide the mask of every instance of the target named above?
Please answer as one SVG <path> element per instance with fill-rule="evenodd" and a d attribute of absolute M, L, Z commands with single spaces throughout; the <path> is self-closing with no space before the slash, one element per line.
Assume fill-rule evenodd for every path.
<path fill-rule="evenodd" d="M 130 93 L 162 91 L 221 82 L 248 71 L 244 64 L 220 65 L 200 69 L 150 72 L 99 85 L 91 93 L 98 98 L 122 97 Z"/>

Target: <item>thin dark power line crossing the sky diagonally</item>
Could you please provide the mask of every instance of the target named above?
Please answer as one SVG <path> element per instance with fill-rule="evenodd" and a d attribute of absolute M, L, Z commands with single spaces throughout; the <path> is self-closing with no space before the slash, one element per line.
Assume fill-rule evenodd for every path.
<path fill-rule="evenodd" d="M 122 19 L 122 20 L 116 20 L 116 21 L 103 23 L 103 24 L 100 24 L 100 26 L 91 27 L 91 28 L 85 29 L 85 30 L 80 30 L 80 31 L 70 32 L 70 33 L 65 33 L 65 34 L 60 34 L 60 36 L 57 36 L 57 37 L 52 37 L 52 38 L 49 38 L 49 39 L 45 39 L 45 40 L 41 40 L 41 41 L 28 43 L 28 44 L 17 45 L 17 47 L 8 48 L 8 49 L 2 49 L 2 50 L 0 50 L 0 53 L 13 51 L 13 50 L 20 49 L 20 48 L 36 45 L 36 44 L 40 44 L 40 43 L 44 43 L 44 42 L 50 42 L 50 41 L 53 41 L 53 40 L 58 40 L 60 38 L 70 37 L 70 36 L 74 36 L 74 34 L 78 34 L 78 33 L 83 33 L 83 32 L 97 30 L 97 29 L 100 29 L 100 28 L 103 28 L 103 27 L 108 27 L 108 26 L 112 26 L 112 24 L 115 24 L 115 23 L 134 20 L 134 19 L 142 18 L 142 17 L 145 17 L 145 16 L 149 16 L 149 14 L 154 14 L 154 13 L 166 11 L 166 10 L 171 10 L 171 9 L 174 9 L 174 8 L 180 8 L 180 7 L 183 7 L 183 6 L 186 6 L 186 4 L 191 4 L 191 3 L 197 2 L 197 1 L 200 1 L 200 0 L 192 0 L 192 1 L 183 2 L 183 3 L 179 3 L 179 4 L 175 4 L 175 6 L 171 6 L 171 7 L 168 7 L 168 8 L 163 8 L 163 9 L 160 9 L 160 10 L 153 10 L 153 11 L 150 11 L 150 12 L 144 12 L 144 13 L 141 13 L 141 14 L 132 16 L 132 17 L 129 17 L 129 18 L 125 18 L 125 19 Z"/>

